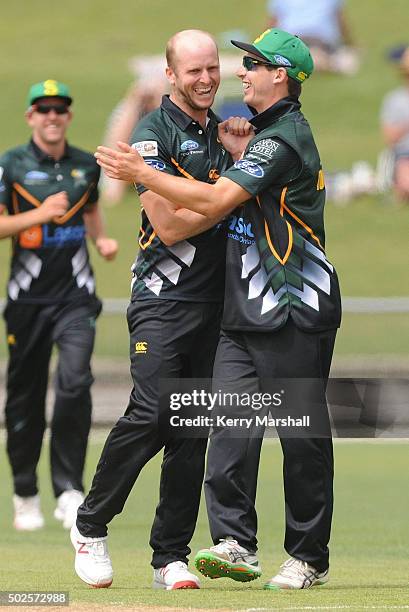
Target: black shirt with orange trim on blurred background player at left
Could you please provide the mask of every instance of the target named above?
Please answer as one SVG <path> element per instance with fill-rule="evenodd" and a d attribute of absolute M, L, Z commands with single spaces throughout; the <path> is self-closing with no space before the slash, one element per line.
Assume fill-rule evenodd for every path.
<path fill-rule="evenodd" d="M 32 140 L 0 159 L 0 204 L 10 215 L 66 191 L 67 212 L 13 238 L 7 294 L 11 302 L 43 303 L 89 300 L 95 296 L 83 213 L 98 200 L 100 169 L 93 155 L 68 144 L 55 161 Z"/>

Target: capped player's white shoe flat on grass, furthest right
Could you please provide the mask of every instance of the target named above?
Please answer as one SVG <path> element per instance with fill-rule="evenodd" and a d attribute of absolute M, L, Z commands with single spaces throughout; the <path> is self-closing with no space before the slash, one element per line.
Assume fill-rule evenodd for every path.
<path fill-rule="evenodd" d="M 305 561 L 290 557 L 280 566 L 280 571 L 265 585 L 265 589 L 309 589 L 328 582 L 329 570 L 319 572 Z"/>

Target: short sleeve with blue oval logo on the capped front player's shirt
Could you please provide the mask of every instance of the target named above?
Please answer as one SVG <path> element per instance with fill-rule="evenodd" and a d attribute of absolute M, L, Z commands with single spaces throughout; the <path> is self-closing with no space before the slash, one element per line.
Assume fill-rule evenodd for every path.
<path fill-rule="evenodd" d="M 288 144 L 278 138 L 254 138 L 242 159 L 222 176 L 243 187 L 253 197 L 272 184 L 285 185 L 301 170 L 301 160 Z"/>

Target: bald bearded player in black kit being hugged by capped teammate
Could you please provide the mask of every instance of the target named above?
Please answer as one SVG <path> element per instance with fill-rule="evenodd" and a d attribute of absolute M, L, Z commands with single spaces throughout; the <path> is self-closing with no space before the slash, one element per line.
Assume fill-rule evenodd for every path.
<path fill-rule="evenodd" d="M 216 44 L 206 32 L 179 32 L 168 42 L 166 57 L 171 94 L 138 123 L 132 150 L 160 175 L 213 184 L 231 165 L 210 109 L 220 82 Z M 161 428 L 159 380 L 211 377 L 224 294 L 226 232 L 216 223 L 223 213 L 210 218 L 180 209 L 172 203 L 177 197 L 168 201 L 140 181 L 137 190 L 142 226 L 128 308 L 134 387 L 71 532 L 75 569 L 92 586 L 110 586 L 107 525 L 122 511 L 143 466 L 164 449 L 150 538 L 153 586 L 197 589 L 199 579 L 187 563 L 207 440 L 172 439 Z"/>

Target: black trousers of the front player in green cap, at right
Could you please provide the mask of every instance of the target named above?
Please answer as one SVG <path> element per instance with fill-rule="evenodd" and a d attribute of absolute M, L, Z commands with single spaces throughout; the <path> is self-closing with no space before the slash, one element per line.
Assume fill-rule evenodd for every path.
<path fill-rule="evenodd" d="M 224 332 L 215 359 L 214 384 L 232 381 L 233 390 L 237 390 L 241 383 L 246 384 L 246 378 L 326 381 L 335 335 L 335 330 L 301 331 L 291 319 L 276 332 Z M 325 393 L 318 409 L 324 421 L 328 420 Z M 240 416 L 244 416 L 242 410 Z M 254 411 L 246 416 L 254 417 Z M 250 428 L 246 435 L 223 426 L 213 430 L 205 492 L 214 543 L 231 536 L 248 550 L 257 550 L 255 500 L 262 433 L 259 427 L 257 431 Z M 328 567 L 333 509 L 332 439 L 281 435 L 280 442 L 284 457 L 284 547 L 291 556 L 323 571 Z M 281 512 L 273 500 L 272 507 Z"/>

